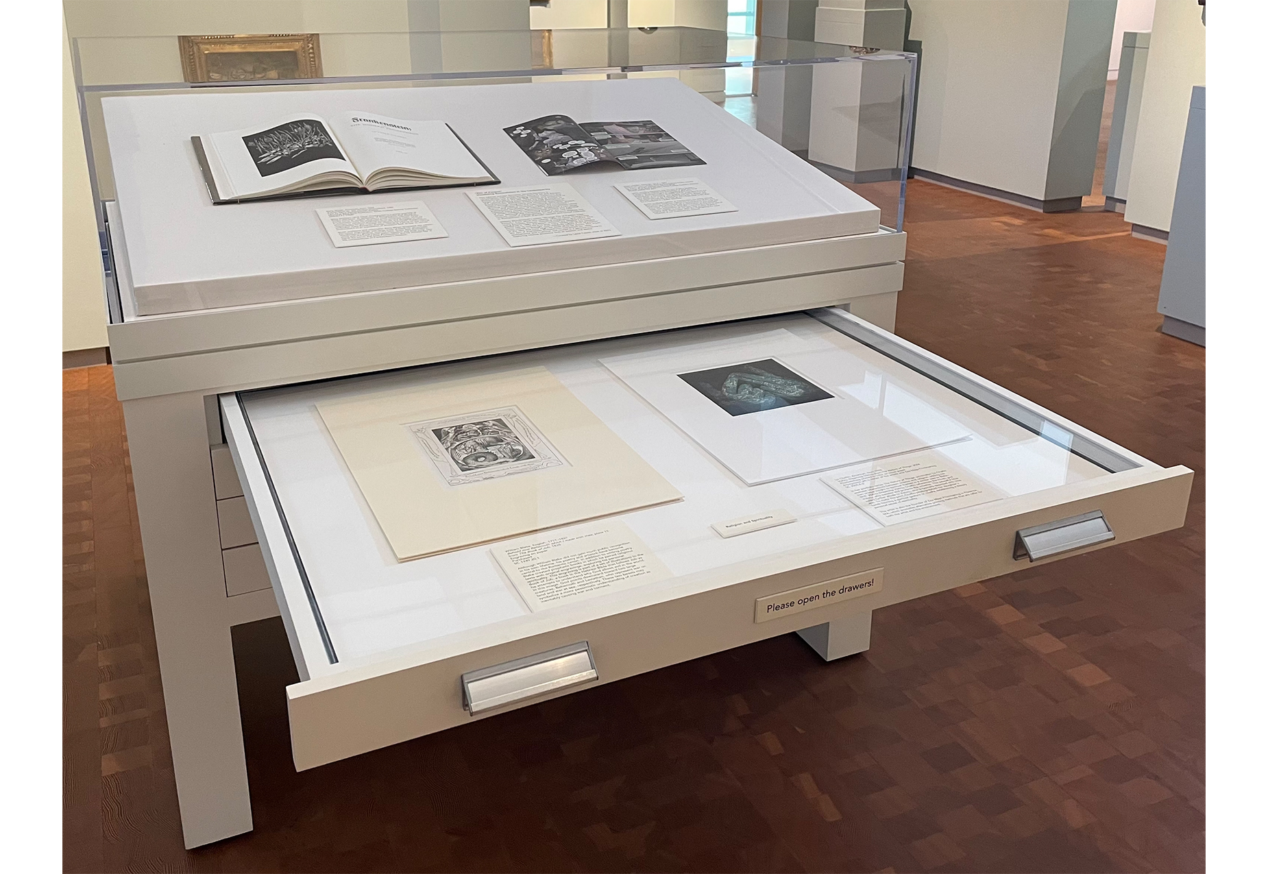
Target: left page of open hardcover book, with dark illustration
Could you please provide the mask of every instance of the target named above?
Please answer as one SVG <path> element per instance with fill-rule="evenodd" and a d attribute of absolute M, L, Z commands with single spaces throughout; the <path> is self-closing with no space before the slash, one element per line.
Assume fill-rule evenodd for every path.
<path fill-rule="evenodd" d="M 312 113 L 265 128 L 212 133 L 208 141 L 208 161 L 227 199 L 361 184 L 331 126 Z"/>

